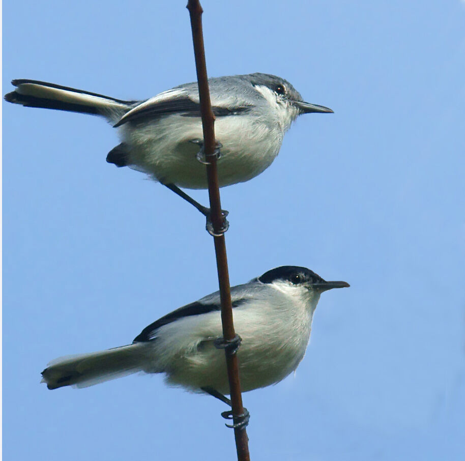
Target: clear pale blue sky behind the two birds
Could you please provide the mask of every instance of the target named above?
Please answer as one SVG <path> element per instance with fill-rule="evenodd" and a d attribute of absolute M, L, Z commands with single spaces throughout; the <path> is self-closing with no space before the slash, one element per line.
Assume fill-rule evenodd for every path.
<path fill-rule="evenodd" d="M 193 81 L 185 4 L 6 1 L 3 93 L 32 78 L 144 99 Z M 202 6 L 210 76 L 280 75 L 335 111 L 221 191 L 231 284 L 301 265 L 352 285 L 322 296 L 295 376 L 244 394 L 252 460 L 462 459 L 465 2 Z M 224 405 L 161 376 L 39 384 L 51 359 L 127 344 L 216 291 L 213 242 L 180 198 L 106 163 L 103 120 L 3 117 L 5 459 L 235 459 Z"/>

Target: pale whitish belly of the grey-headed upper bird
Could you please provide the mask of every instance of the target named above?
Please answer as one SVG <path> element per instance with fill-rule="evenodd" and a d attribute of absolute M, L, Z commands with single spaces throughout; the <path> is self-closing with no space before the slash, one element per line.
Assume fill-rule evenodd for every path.
<path fill-rule="evenodd" d="M 282 142 L 280 133 L 265 126 L 257 125 L 245 136 L 243 121 L 235 117 L 223 119 L 215 124 L 216 139 L 223 145 L 217 163 L 220 187 L 259 175 L 276 158 Z M 190 142 L 202 139 L 199 119 L 168 118 L 166 127 L 157 127 L 157 132 L 161 134 L 155 137 L 150 125 L 139 127 L 137 133 L 125 132 L 123 139 L 130 147 L 131 167 L 165 184 L 206 189 L 206 167 L 196 159 L 199 147 Z M 173 139 L 182 141 L 175 143 Z"/>

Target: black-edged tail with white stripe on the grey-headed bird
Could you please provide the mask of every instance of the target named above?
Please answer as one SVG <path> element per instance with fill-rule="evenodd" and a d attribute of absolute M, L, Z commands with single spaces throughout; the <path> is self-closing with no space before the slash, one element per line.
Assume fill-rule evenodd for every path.
<path fill-rule="evenodd" d="M 11 83 L 17 88 L 5 95 L 5 100 L 26 107 L 92 113 L 113 120 L 137 103 L 38 80 L 12 80 Z"/>

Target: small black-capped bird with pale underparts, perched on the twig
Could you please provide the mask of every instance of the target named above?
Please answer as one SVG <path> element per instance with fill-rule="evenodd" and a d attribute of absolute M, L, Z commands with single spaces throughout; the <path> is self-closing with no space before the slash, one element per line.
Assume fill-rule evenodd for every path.
<path fill-rule="evenodd" d="M 350 286 L 305 267 L 280 266 L 231 287 L 243 392 L 270 386 L 294 371 L 310 338 L 320 295 Z M 169 386 L 207 393 L 230 405 L 222 347 L 219 292 L 162 316 L 131 344 L 61 357 L 42 371 L 48 389 L 93 386 L 136 372 L 164 373 Z M 239 346 L 239 344 L 237 344 Z"/>

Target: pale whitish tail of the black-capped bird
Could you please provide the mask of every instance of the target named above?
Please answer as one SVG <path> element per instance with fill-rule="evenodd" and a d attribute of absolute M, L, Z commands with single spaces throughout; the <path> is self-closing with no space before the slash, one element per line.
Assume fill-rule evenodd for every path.
<path fill-rule="evenodd" d="M 146 343 L 134 343 L 107 351 L 60 357 L 42 371 L 49 389 L 88 387 L 136 373 L 150 361 Z"/>

